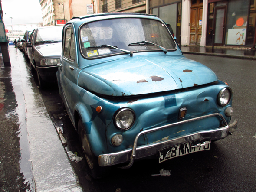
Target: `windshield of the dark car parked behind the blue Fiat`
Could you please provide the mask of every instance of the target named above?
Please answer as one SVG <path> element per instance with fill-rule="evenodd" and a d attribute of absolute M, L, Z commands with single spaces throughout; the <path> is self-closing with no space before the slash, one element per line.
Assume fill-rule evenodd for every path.
<path fill-rule="evenodd" d="M 62 42 L 63 26 L 40 28 L 36 32 L 36 42 Z"/>

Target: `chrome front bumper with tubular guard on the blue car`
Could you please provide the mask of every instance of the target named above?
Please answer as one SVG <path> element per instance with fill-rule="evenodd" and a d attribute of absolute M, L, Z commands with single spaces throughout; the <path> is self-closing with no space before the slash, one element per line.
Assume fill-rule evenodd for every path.
<path fill-rule="evenodd" d="M 219 116 L 221 118 L 221 120 L 223 121 L 224 126 L 218 128 L 218 129 L 214 129 L 214 130 L 200 131 L 200 132 L 192 133 L 189 135 L 185 135 L 183 137 L 177 137 L 174 139 L 164 140 L 164 141 L 160 141 L 158 143 L 150 143 L 147 145 L 137 147 L 138 138 L 141 135 L 151 133 L 154 131 L 158 131 L 158 130 L 163 130 L 168 127 L 173 127 L 175 125 L 185 124 L 185 123 L 189 123 L 191 121 L 200 120 L 200 119 L 213 117 L 213 116 Z M 125 163 L 125 162 L 130 161 L 130 163 L 127 166 L 121 167 L 123 169 L 128 169 L 132 166 L 135 159 L 140 159 L 140 158 L 147 157 L 147 156 L 157 155 L 158 151 L 161 149 L 164 149 L 164 148 L 167 148 L 170 146 L 180 145 L 183 143 L 189 143 L 189 142 L 197 141 L 197 140 L 223 139 L 223 138 L 227 137 L 229 134 L 233 133 L 236 130 L 236 128 L 237 128 L 236 120 L 234 120 L 234 122 L 232 124 L 228 125 L 226 123 L 226 120 L 224 119 L 224 117 L 221 114 L 216 113 L 216 114 L 205 115 L 202 117 L 196 117 L 196 118 L 189 119 L 189 120 L 184 120 L 184 121 L 173 123 L 173 124 L 168 124 L 168 125 L 161 126 L 161 127 L 156 127 L 156 128 L 150 129 L 150 130 L 144 130 L 144 131 L 141 131 L 140 133 L 138 133 L 138 135 L 135 137 L 133 148 L 129 148 L 127 150 L 122 150 L 122 151 L 119 151 L 116 153 L 108 153 L 108 154 L 99 155 L 98 163 L 100 166 L 112 166 L 112 165 L 116 165 L 119 163 Z"/>

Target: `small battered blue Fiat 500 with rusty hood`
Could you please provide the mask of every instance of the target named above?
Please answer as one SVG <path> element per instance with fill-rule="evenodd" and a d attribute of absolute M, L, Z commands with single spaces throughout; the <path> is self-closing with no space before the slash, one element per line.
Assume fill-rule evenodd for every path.
<path fill-rule="evenodd" d="M 236 130 L 230 87 L 185 58 L 156 16 L 72 18 L 58 66 L 59 93 L 94 178 L 136 159 L 209 150 Z"/>

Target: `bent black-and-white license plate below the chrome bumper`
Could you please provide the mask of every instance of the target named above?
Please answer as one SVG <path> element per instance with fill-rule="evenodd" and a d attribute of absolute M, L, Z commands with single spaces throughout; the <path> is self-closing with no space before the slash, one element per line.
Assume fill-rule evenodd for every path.
<path fill-rule="evenodd" d="M 210 141 L 185 143 L 172 148 L 159 150 L 159 163 L 177 156 L 187 155 L 197 151 L 210 150 Z"/>

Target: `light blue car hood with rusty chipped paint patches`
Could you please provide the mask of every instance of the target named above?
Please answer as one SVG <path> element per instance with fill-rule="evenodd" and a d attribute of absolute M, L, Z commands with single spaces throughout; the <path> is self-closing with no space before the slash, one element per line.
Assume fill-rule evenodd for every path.
<path fill-rule="evenodd" d="M 88 91 L 128 96 L 194 87 L 217 81 L 206 66 L 182 55 L 133 56 L 86 66 L 78 85 Z"/>

